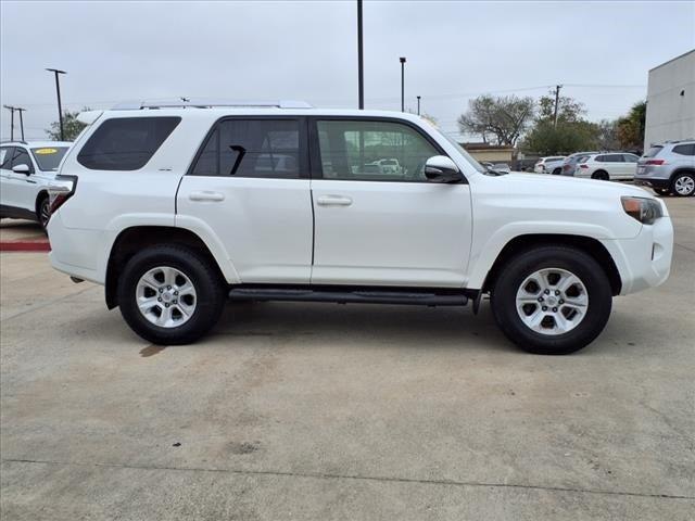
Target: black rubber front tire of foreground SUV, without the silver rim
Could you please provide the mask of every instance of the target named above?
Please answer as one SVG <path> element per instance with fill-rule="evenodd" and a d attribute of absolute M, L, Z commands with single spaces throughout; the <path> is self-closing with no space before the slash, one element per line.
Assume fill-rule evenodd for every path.
<path fill-rule="evenodd" d="M 566 333 L 535 332 L 517 312 L 517 291 L 527 277 L 543 268 L 570 271 L 586 288 L 586 315 Z M 569 246 L 540 246 L 515 255 L 503 267 L 491 294 L 492 312 L 504 334 L 522 350 L 540 355 L 566 355 L 590 344 L 606 326 L 611 304 L 612 291 L 603 268 L 592 256 Z"/>

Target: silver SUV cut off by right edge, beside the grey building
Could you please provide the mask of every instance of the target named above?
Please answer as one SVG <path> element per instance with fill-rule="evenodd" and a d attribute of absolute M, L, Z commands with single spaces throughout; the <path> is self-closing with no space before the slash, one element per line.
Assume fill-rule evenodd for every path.
<path fill-rule="evenodd" d="M 695 194 L 695 140 L 653 145 L 637 162 L 634 181 L 661 194 Z"/>

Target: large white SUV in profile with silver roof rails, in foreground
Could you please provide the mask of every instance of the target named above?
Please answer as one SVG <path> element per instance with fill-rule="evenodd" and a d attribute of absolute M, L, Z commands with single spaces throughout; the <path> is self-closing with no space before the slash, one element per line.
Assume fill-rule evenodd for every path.
<path fill-rule="evenodd" d="M 669 275 L 671 220 L 640 188 L 488 171 L 412 114 L 212 105 L 83 115 L 52 189 L 51 263 L 150 342 L 197 340 L 227 298 L 490 294 L 513 342 L 564 354 Z"/>

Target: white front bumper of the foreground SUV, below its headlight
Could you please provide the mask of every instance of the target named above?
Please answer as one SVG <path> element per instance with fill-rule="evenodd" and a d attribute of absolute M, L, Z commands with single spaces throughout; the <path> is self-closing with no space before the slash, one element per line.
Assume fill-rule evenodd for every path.
<path fill-rule="evenodd" d="M 644 225 L 633 239 L 603 240 L 614 258 L 622 288 L 621 295 L 662 284 L 671 271 L 673 225 L 665 215 L 654 225 Z"/>

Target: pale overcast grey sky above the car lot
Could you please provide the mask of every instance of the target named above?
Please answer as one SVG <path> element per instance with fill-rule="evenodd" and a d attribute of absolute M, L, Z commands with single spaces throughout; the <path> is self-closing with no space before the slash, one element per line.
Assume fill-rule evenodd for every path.
<path fill-rule="evenodd" d="M 365 107 L 421 110 L 459 136 L 482 93 L 538 98 L 555 85 L 612 119 L 646 98 L 650 68 L 695 48 L 695 1 L 364 2 Z M 178 97 L 357 106 L 356 0 L 0 1 L 0 101 L 27 139 L 65 110 Z M 10 137 L 10 112 L 0 113 Z M 16 119 L 16 117 L 15 117 Z M 18 123 L 15 122 L 15 137 Z"/>

